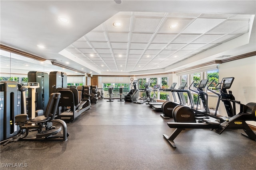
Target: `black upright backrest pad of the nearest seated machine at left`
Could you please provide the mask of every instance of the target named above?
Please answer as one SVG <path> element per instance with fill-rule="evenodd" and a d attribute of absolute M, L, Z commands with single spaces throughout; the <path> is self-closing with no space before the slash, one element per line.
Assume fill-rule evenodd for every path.
<path fill-rule="evenodd" d="M 59 100 L 60 100 L 60 93 L 50 94 L 50 99 L 48 101 L 46 110 L 44 112 L 44 117 L 52 117 L 52 119 L 54 119 Z"/>

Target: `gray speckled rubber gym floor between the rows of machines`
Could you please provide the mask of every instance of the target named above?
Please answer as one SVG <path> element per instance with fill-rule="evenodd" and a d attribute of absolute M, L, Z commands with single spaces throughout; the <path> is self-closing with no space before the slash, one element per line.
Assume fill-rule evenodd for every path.
<path fill-rule="evenodd" d="M 172 119 L 148 105 L 98 100 L 68 123 L 68 141 L 18 141 L 1 146 L 0 169 L 26 170 L 255 170 L 256 142 L 241 130 L 221 135 L 188 129 L 173 149 L 163 138 Z M 6 168 L 5 164 L 23 168 Z M 10 165 L 10 164 L 9 164 Z M 17 165 L 18 166 L 18 165 Z"/>

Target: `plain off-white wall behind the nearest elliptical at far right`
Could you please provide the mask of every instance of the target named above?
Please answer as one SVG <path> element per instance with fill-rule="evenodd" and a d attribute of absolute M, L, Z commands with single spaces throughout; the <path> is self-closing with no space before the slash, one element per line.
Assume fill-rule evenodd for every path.
<path fill-rule="evenodd" d="M 224 77 L 235 78 L 230 90 L 236 100 L 242 104 L 256 103 L 256 56 L 220 64 L 219 81 Z M 239 107 L 236 109 L 238 110 Z M 220 103 L 219 114 L 226 116 L 222 102 Z M 250 122 L 250 124 L 256 125 L 256 122 Z"/>

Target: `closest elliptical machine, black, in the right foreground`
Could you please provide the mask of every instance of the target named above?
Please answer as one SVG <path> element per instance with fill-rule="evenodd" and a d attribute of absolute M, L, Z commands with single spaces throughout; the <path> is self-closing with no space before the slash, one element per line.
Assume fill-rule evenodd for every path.
<path fill-rule="evenodd" d="M 234 96 L 231 96 L 230 94 L 227 93 L 226 89 L 229 89 L 231 87 L 231 84 L 234 80 L 234 77 L 228 77 L 228 78 L 223 78 L 221 82 L 221 88 L 220 88 L 220 94 L 222 94 L 224 97 L 221 98 L 220 100 L 225 101 L 225 102 L 230 102 L 233 104 L 238 104 L 240 106 L 240 111 L 238 114 L 232 116 L 232 117 L 217 117 L 212 114 L 208 114 L 205 112 L 204 114 L 208 116 L 208 118 L 204 119 L 196 119 L 194 117 L 194 121 L 187 121 L 186 122 L 178 122 L 179 120 L 174 119 L 176 122 L 168 122 L 167 125 L 170 128 L 176 128 L 173 133 L 169 136 L 163 135 L 164 139 L 168 141 L 168 143 L 173 147 L 176 148 L 176 145 L 174 143 L 174 139 L 180 134 L 180 132 L 186 128 L 188 129 L 216 129 L 216 133 L 221 134 L 225 129 L 243 129 L 246 134 L 243 134 L 245 137 L 252 139 L 256 141 L 256 132 L 252 131 L 252 129 L 248 126 L 246 121 L 256 121 L 256 103 L 250 102 L 246 105 L 241 104 L 239 101 L 236 100 L 231 100 L 226 98 L 228 96 L 229 98 L 233 98 Z M 177 106 L 177 110 L 178 110 Z M 176 107 L 175 107 L 176 108 Z M 174 109 L 175 109 L 174 108 Z M 233 113 L 236 113 L 233 109 Z M 226 108 L 226 111 L 230 111 L 230 108 Z M 184 111 L 184 115 L 192 115 L 194 114 L 195 110 L 190 109 L 190 112 L 188 109 Z M 229 113 L 228 113 L 229 114 Z M 176 114 L 177 115 L 177 114 Z M 173 116 L 174 111 L 173 111 Z M 179 116 L 179 115 L 177 115 Z"/>

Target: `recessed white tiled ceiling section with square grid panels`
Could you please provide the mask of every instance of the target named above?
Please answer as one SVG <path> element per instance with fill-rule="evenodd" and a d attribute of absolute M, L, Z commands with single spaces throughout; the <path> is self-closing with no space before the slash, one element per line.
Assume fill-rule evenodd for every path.
<path fill-rule="evenodd" d="M 251 15 L 119 12 L 66 50 L 102 72 L 166 68 L 248 33 Z M 114 23 L 120 23 L 115 27 Z"/>

